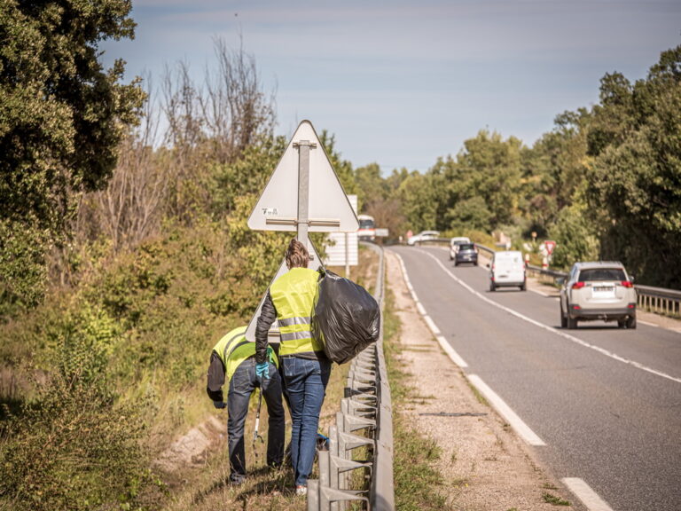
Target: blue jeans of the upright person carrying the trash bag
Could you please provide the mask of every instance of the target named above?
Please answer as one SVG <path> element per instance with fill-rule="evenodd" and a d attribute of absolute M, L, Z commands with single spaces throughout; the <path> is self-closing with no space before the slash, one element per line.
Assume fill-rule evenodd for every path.
<path fill-rule="evenodd" d="M 331 375 L 330 360 L 283 357 L 284 381 L 291 410 L 291 460 L 295 484 L 308 484 L 317 452 L 319 412 Z"/>

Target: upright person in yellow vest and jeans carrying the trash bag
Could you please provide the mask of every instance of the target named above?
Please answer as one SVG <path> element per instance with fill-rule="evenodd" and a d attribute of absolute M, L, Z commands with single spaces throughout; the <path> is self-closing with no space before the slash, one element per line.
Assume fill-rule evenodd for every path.
<path fill-rule="evenodd" d="M 286 250 L 289 271 L 270 286 L 255 327 L 255 361 L 260 367 L 266 359 L 267 333 L 275 318 L 278 320 L 279 359 L 293 422 L 291 460 L 298 495 L 308 491 L 317 450 L 319 413 L 331 374 L 331 361 L 310 329 L 319 274 L 310 270 L 308 263 L 308 249 L 292 239 Z"/>

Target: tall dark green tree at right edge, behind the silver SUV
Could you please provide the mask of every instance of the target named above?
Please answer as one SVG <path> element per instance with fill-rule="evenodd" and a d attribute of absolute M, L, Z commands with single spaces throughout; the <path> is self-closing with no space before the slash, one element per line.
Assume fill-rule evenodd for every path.
<path fill-rule="evenodd" d="M 681 46 L 645 80 L 601 81 L 590 133 L 590 210 L 602 210 L 601 256 L 639 281 L 681 287 Z"/>

